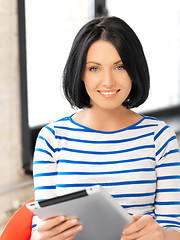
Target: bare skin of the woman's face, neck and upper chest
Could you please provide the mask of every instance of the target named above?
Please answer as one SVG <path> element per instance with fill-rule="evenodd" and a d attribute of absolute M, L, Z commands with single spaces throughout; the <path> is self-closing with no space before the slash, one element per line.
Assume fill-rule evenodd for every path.
<path fill-rule="evenodd" d="M 73 115 L 75 122 L 100 131 L 116 131 L 142 118 L 122 105 L 132 81 L 110 42 L 98 40 L 90 46 L 82 79 L 92 107 Z"/>

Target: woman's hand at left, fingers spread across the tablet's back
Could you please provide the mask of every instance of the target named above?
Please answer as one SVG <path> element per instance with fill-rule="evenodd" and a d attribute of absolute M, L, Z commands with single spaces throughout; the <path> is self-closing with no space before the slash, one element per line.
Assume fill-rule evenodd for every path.
<path fill-rule="evenodd" d="M 71 240 L 82 230 L 76 218 L 66 219 L 64 216 L 41 221 L 37 226 L 34 240 Z"/>

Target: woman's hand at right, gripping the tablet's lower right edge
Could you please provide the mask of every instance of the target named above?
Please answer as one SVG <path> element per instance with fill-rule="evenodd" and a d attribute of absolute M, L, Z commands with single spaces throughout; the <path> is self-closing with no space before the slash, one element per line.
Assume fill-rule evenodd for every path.
<path fill-rule="evenodd" d="M 121 240 L 165 240 L 163 227 L 151 216 L 136 214 L 133 219 L 135 221 L 124 229 Z"/>

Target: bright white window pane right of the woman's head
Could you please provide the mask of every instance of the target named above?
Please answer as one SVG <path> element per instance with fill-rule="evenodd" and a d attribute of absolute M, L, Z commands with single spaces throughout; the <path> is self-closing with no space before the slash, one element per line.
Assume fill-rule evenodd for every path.
<path fill-rule="evenodd" d="M 139 37 L 147 58 L 151 90 L 138 111 L 180 104 L 180 3 L 174 0 L 106 0 L 109 15 L 125 20 Z"/>

